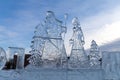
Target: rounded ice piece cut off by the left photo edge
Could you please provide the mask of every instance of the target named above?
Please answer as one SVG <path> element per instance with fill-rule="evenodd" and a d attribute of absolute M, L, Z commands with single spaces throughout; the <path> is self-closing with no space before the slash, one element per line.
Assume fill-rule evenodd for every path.
<path fill-rule="evenodd" d="M 0 69 L 2 69 L 7 61 L 6 52 L 0 47 Z"/>

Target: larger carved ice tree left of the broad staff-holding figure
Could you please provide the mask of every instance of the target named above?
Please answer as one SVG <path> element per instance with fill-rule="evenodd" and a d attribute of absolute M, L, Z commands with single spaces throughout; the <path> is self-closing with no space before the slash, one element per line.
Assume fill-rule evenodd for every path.
<path fill-rule="evenodd" d="M 43 27 L 42 24 L 38 24 L 35 27 L 34 31 L 34 37 L 33 40 L 31 41 L 31 57 L 28 58 L 30 64 L 35 65 L 35 66 L 42 66 L 42 53 L 43 53 L 43 48 L 44 48 L 44 39 L 41 39 L 41 36 L 46 36 L 45 33 L 45 28 Z"/>

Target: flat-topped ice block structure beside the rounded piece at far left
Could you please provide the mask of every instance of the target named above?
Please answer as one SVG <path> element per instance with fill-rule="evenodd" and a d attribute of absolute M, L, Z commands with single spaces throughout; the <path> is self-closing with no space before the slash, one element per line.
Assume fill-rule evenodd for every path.
<path fill-rule="evenodd" d="M 17 55 L 16 69 L 23 69 L 25 49 L 19 47 L 9 47 L 9 53 L 12 56 Z"/>

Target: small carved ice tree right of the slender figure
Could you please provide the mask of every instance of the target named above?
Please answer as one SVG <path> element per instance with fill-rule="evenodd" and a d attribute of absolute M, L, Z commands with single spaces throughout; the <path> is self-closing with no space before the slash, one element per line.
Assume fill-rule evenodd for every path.
<path fill-rule="evenodd" d="M 99 51 L 98 45 L 94 40 L 92 40 L 90 54 L 89 54 L 90 66 L 94 68 L 99 68 L 100 58 L 101 57 L 100 57 L 100 51 Z"/>

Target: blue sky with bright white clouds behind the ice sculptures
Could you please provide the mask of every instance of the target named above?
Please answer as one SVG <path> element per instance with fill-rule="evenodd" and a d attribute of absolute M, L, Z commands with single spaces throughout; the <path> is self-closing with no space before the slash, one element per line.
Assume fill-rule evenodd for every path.
<path fill-rule="evenodd" d="M 0 0 L 0 46 L 5 50 L 9 46 L 23 47 L 28 52 L 34 28 L 48 10 L 63 22 L 68 13 L 68 53 L 74 17 L 80 20 L 86 49 L 93 39 L 104 45 L 120 38 L 120 0 Z"/>

